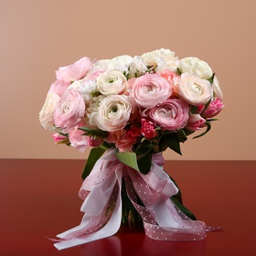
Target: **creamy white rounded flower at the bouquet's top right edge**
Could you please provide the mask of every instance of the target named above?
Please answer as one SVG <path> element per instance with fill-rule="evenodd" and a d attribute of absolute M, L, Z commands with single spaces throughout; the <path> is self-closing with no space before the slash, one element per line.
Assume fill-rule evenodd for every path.
<path fill-rule="evenodd" d="M 182 73 L 196 74 L 203 80 L 208 80 L 212 77 L 212 70 L 208 66 L 208 63 L 196 57 L 180 59 L 178 69 Z"/>

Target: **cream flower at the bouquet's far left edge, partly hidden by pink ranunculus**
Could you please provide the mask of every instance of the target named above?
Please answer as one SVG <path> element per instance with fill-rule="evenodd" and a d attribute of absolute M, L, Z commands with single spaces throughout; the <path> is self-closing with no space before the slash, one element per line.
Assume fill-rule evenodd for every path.
<path fill-rule="evenodd" d="M 48 93 L 47 99 L 39 112 L 39 122 L 46 130 L 52 130 L 54 124 L 53 113 L 60 97 L 56 93 Z"/>

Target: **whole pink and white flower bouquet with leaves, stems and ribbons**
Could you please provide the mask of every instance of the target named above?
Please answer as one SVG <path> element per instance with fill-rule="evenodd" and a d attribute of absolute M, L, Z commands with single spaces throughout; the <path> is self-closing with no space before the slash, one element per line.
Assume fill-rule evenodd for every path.
<path fill-rule="evenodd" d="M 141 56 L 82 58 L 56 71 L 39 122 L 56 144 L 88 157 L 80 188 L 80 226 L 59 234 L 56 247 L 144 225 L 156 240 L 202 240 L 206 226 L 183 206 L 162 153 L 209 132 L 223 109 L 219 80 L 208 63 L 161 48 Z"/>

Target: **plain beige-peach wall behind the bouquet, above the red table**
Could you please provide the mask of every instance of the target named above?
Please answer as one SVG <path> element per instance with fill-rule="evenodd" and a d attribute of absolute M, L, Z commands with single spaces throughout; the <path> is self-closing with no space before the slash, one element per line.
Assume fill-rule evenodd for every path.
<path fill-rule="evenodd" d="M 54 71 L 83 56 L 170 48 L 208 62 L 226 108 L 182 157 L 165 158 L 255 160 L 255 10 L 253 0 L 1 0 L 0 158 L 86 158 L 38 123 Z"/>

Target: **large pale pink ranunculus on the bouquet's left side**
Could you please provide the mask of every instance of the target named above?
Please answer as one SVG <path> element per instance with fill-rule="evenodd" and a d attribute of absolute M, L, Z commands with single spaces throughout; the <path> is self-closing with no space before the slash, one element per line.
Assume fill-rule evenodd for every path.
<path fill-rule="evenodd" d="M 54 123 L 57 127 L 65 128 L 63 133 L 80 123 L 85 114 L 85 103 L 77 89 L 65 91 L 54 111 Z"/>

